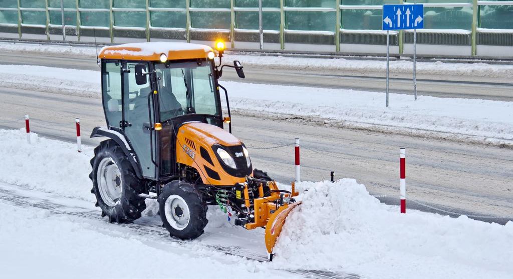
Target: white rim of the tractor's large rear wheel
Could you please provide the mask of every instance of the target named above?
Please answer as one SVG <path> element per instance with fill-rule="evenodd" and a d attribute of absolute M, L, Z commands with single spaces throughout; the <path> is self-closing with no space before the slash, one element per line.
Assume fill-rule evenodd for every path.
<path fill-rule="evenodd" d="M 98 165 L 97 172 L 98 190 L 104 203 L 115 206 L 120 202 L 123 180 L 121 171 L 111 157 L 103 158 Z"/>

